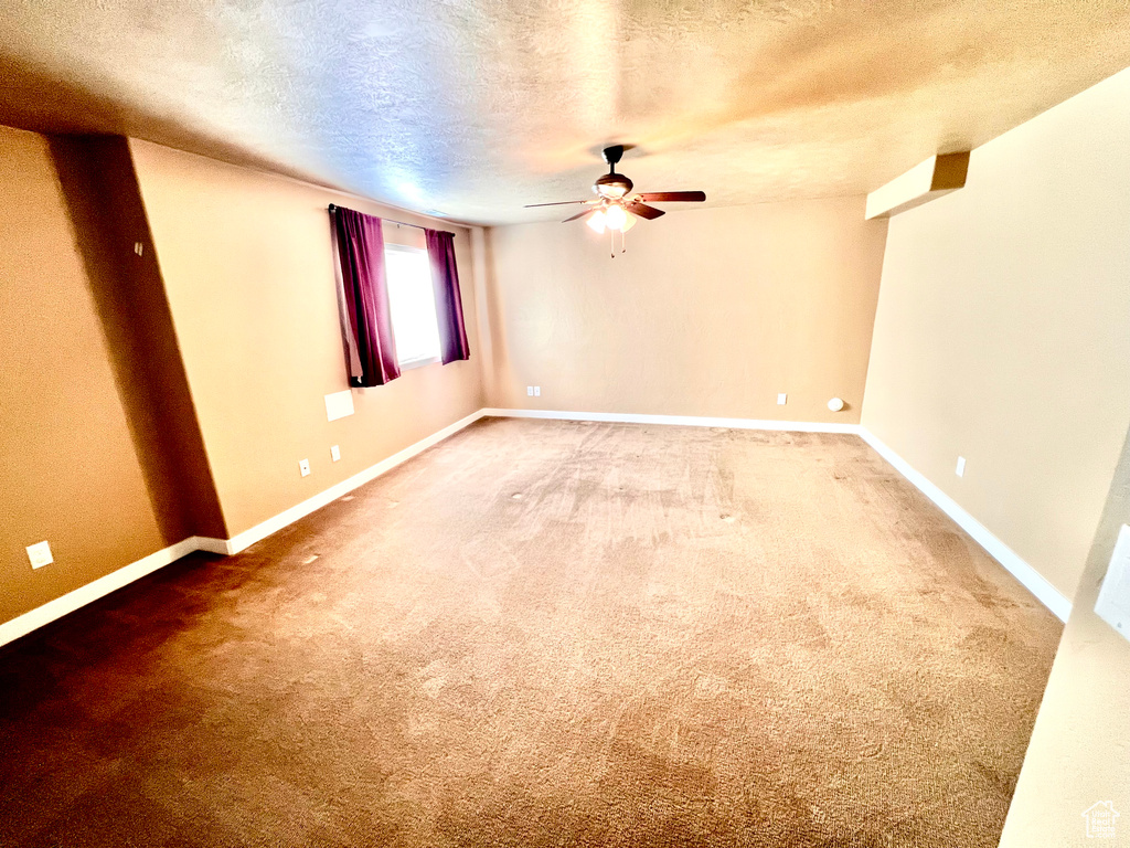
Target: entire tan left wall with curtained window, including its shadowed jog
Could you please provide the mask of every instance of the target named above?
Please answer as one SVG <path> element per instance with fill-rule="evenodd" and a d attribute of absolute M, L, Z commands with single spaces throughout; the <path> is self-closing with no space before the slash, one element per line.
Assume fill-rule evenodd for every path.
<path fill-rule="evenodd" d="M 155 145 L 7 128 L 0 197 L 0 623 L 189 535 L 249 529 L 483 406 L 467 228 L 446 227 L 472 360 L 355 390 L 331 423 L 323 396 L 347 379 L 325 207 L 426 222 Z M 55 563 L 33 571 L 43 539 Z"/>

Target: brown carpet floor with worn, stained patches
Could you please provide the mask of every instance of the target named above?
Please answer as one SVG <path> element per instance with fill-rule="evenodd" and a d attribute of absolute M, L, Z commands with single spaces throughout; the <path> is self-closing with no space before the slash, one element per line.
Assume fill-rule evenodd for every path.
<path fill-rule="evenodd" d="M 991 848 L 1060 629 L 855 436 L 486 419 L 0 650 L 0 843 Z"/>

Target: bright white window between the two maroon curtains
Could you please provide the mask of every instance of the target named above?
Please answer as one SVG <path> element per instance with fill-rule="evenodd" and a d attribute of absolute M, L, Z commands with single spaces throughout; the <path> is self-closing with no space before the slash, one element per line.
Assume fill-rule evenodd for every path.
<path fill-rule="evenodd" d="M 386 244 L 384 259 L 392 335 L 397 340 L 400 367 L 438 362 L 440 328 L 427 251 Z"/>

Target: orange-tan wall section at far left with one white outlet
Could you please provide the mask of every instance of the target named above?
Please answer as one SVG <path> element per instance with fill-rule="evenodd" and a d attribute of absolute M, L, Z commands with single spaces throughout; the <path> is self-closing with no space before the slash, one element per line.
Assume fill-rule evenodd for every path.
<path fill-rule="evenodd" d="M 49 139 L 3 127 L 0 363 L 3 622 L 166 544 Z"/>

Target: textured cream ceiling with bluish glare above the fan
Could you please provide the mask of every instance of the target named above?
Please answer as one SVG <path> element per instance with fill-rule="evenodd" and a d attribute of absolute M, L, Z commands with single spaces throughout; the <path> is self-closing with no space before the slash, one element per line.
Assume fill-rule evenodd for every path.
<path fill-rule="evenodd" d="M 505 223 L 864 192 L 1130 64 L 1127 0 L 6 0 L 0 123 Z"/>

